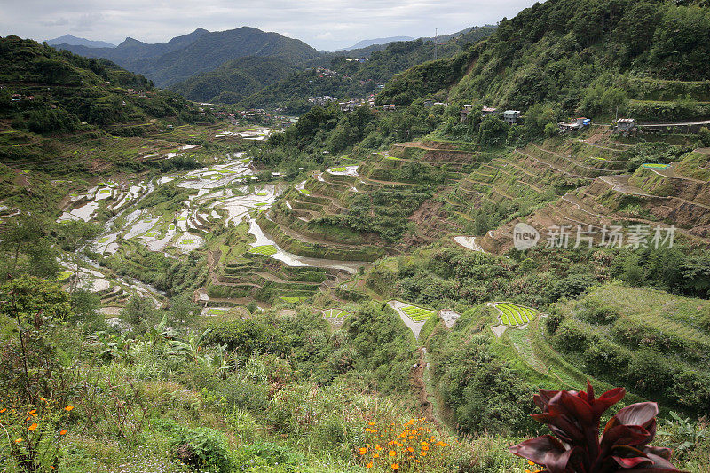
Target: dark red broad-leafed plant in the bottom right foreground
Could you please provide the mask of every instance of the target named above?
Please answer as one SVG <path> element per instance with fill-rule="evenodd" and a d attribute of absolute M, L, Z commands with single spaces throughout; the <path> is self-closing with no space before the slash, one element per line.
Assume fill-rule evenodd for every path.
<path fill-rule="evenodd" d="M 599 438 L 602 414 L 626 395 L 624 388 L 595 398 L 587 392 L 540 390 L 534 396 L 542 410 L 533 417 L 548 424 L 543 435 L 509 447 L 510 452 L 543 466 L 548 473 L 667 473 L 678 471 L 669 461 L 671 450 L 648 445 L 656 435 L 655 402 L 640 402 L 619 410 Z"/>

